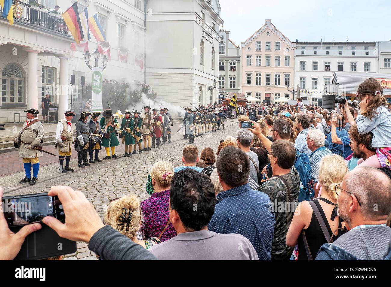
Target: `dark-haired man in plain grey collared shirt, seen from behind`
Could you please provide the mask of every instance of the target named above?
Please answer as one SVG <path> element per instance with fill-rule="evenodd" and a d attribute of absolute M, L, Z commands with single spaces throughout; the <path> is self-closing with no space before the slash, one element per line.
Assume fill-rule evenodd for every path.
<path fill-rule="evenodd" d="M 151 253 L 160 260 L 258 260 L 243 235 L 208 230 L 215 203 L 208 176 L 192 169 L 176 172 L 170 187 L 170 221 L 178 235 L 153 246 Z"/>

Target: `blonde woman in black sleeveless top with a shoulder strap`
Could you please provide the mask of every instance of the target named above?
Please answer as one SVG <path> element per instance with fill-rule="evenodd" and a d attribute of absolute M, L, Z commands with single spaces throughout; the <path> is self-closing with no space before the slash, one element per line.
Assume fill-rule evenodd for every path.
<path fill-rule="evenodd" d="M 287 245 L 295 246 L 298 244 L 297 260 L 315 259 L 319 248 L 322 244 L 327 243 L 329 238 L 335 241 L 347 232 L 344 222 L 337 215 L 336 206 L 338 194 L 341 193 L 339 185 L 347 172 L 345 160 L 339 155 L 327 155 L 319 163 L 320 196 L 311 201 L 314 206 L 310 204 L 310 201 L 300 202 L 287 233 Z M 320 222 L 314 209 L 317 209 L 322 217 Z M 327 239 L 322 231 L 322 225 L 326 226 L 329 237 Z M 305 235 L 301 235 L 303 230 Z M 305 241 L 308 243 L 310 254 L 306 252 Z"/>

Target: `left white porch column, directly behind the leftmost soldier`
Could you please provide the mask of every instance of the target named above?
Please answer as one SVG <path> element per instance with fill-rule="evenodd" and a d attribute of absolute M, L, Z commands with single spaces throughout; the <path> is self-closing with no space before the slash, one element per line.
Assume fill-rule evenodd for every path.
<path fill-rule="evenodd" d="M 38 110 L 38 53 L 41 50 L 30 47 L 26 48 L 28 53 L 27 65 L 27 109 Z"/>

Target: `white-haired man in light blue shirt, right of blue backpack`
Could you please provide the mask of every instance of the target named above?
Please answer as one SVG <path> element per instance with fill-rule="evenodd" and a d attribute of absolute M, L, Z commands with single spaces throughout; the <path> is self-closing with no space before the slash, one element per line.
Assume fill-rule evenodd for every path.
<path fill-rule="evenodd" d="M 314 187 L 319 182 L 319 162 L 326 155 L 332 155 L 331 150 L 325 147 L 325 134 L 314 128 L 308 132 L 306 138 L 307 146 L 311 151 L 310 164 L 311 164 L 311 176 L 314 181 Z M 315 188 L 315 196 L 317 196 L 319 190 Z"/>

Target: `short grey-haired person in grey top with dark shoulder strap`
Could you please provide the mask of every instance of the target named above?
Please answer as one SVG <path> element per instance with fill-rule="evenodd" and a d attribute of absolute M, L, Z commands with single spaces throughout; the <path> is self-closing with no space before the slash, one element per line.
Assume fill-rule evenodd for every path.
<path fill-rule="evenodd" d="M 254 134 L 247 128 L 240 128 L 237 131 L 238 148 L 247 154 L 250 160 L 250 177 L 258 183 L 259 160 L 258 155 L 250 150 L 254 141 Z"/>

